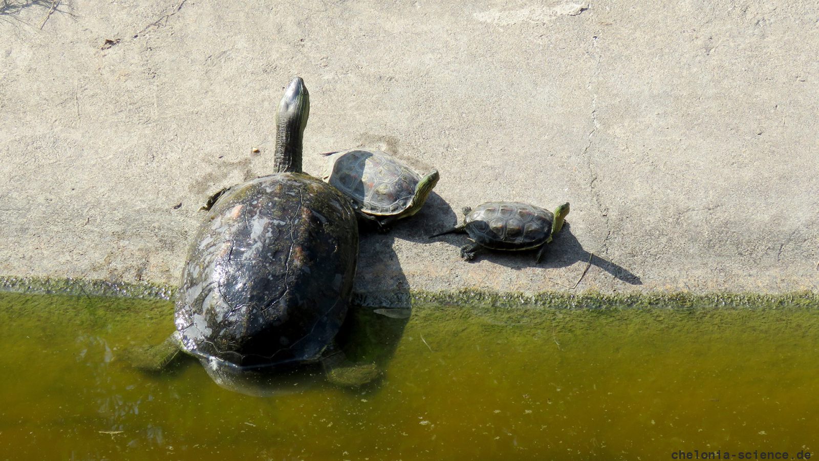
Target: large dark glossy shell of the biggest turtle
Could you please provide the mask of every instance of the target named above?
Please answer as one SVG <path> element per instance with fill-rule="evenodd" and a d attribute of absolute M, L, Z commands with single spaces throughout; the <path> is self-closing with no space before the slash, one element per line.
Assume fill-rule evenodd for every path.
<path fill-rule="evenodd" d="M 318 358 L 346 315 L 357 255 L 355 213 L 324 182 L 278 173 L 230 188 L 185 264 L 183 347 L 238 367 Z"/>

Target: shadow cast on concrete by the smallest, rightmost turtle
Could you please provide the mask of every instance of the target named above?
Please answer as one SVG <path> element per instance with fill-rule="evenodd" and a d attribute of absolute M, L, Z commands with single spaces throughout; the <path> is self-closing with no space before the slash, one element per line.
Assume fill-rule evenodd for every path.
<path fill-rule="evenodd" d="M 626 282 L 629 285 L 642 285 L 643 282 L 640 281 L 640 277 L 625 267 L 583 249 L 583 246 L 577 241 L 577 237 L 572 234 L 571 227 L 571 224 L 568 222 L 563 224 L 563 229 L 554 237 L 552 243 L 547 244 L 548 246 L 540 263 L 535 261 L 538 249 L 500 251 L 481 248 L 473 261 L 486 258 L 491 260 L 491 262 L 516 270 L 522 269 L 523 267 L 556 269 L 571 266 L 576 262 L 588 262 L 593 266 L 600 267 L 600 269 L 603 269 L 605 272 L 609 272 L 609 274 L 618 280 Z M 442 235 L 441 237 L 436 237 L 435 240 L 438 239 L 453 244 L 458 248 L 470 241 L 466 234 Z"/>

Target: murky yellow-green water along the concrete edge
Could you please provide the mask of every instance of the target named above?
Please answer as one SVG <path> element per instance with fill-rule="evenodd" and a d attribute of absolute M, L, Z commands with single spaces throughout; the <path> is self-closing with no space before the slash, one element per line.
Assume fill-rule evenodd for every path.
<path fill-rule="evenodd" d="M 381 381 L 346 390 L 305 374 L 259 397 L 215 385 L 196 361 L 160 374 L 130 366 L 129 350 L 172 330 L 167 301 L 0 294 L 0 459 L 797 459 L 819 450 L 815 297 L 730 301 L 417 303 L 409 319 L 356 308 L 347 352 L 381 364 Z"/>

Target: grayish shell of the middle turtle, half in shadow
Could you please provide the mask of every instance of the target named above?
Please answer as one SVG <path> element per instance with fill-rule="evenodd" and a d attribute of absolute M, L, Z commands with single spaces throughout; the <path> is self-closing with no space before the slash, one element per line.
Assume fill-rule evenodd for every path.
<path fill-rule="evenodd" d="M 334 154 L 328 182 L 363 212 L 389 216 L 409 207 L 421 176 L 380 150 L 352 149 Z"/>

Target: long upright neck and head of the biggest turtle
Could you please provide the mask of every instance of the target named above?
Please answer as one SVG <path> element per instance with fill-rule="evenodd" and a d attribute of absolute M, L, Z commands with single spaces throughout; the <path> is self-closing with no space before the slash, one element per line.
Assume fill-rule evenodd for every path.
<path fill-rule="evenodd" d="M 284 90 L 276 111 L 276 155 L 274 169 L 301 173 L 301 139 L 310 116 L 310 94 L 304 80 L 296 77 Z"/>

